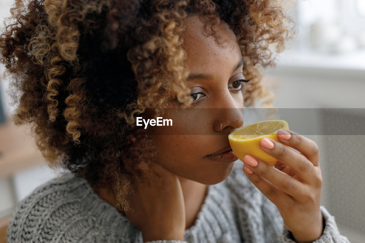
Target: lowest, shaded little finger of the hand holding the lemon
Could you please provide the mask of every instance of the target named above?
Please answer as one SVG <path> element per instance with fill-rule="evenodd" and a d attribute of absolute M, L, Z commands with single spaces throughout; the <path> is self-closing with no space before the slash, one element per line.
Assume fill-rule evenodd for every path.
<path fill-rule="evenodd" d="M 246 167 L 247 168 L 247 167 Z M 273 204 L 282 205 L 283 201 L 287 201 L 290 198 L 288 194 L 277 188 L 277 186 L 271 184 L 269 181 L 265 180 L 265 178 L 253 172 L 249 174 L 245 170 L 245 165 L 243 165 L 243 172 L 249 178 L 249 180 L 254 184 L 257 189 L 262 192 Z"/>

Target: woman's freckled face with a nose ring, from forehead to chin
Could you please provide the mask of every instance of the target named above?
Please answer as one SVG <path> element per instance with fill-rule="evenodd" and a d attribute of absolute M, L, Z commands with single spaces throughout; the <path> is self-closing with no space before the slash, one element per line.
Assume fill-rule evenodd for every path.
<path fill-rule="evenodd" d="M 221 46 L 203 35 L 197 15 L 183 24 L 188 85 L 195 103 L 192 109 L 167 109 L 163 119 L 172 119 L 172 127 L 154 127 L 155 162 L 179 177 L 211 185 L 227 178 L 237 160 L 232 152 L 210 154 L 230 150 L 228 134 L 243 124 L 242 55 L 227 25 L 215 26 L 223 37 Z"/>

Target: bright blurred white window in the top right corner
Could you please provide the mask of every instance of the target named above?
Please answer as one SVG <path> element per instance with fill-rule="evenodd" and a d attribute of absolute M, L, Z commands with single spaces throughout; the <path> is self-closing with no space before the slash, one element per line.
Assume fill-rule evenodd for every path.
<path fill-rule="evenodd" d="M 365 0 L 297 0 L 297 45 L 327 53 L 365 48 Z"/>

